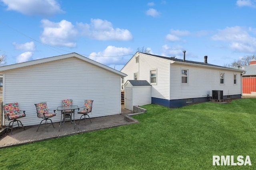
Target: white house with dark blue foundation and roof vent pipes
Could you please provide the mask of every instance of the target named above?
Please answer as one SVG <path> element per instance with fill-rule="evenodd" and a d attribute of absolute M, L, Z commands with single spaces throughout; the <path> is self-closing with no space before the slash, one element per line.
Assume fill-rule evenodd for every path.
<path fill-rule="evenodd" d="M 121 69 L 127 80 L 147 80 L 152 104 L 175 108 L 210 100 L 212 90 L 222 90 L 223 99 L 241 98 L 243 70 L 174 57 L 137 52 Z"/>

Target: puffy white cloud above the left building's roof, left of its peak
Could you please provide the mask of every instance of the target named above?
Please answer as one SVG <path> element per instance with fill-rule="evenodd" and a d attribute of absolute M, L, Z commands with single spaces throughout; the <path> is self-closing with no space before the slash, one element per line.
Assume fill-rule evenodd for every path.
<path fill-rule="evenodd" d="M 58 23 L 42 20 L 44 31 L 40 36 L 42 43 L 47 45 L 56 45 L 60 47 L 75 47 L 74 39 L 78 35 L 71 22 L 62 20 Z"/>

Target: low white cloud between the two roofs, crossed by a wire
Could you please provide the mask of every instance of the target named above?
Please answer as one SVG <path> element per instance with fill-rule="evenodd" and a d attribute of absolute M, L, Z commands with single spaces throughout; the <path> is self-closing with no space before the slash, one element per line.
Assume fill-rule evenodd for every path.
<path fill-rule="evenodd" d="M 132 53 L 132 50 L 129 48 L 124 47 L 114 47 L 114 46 L 108 46 L 104 51 L 102 52 L 93 52 L 90 54 L 89 58 L 97 61 L 98 63 L 102 63 L 105 65 L 122 65 L 126 64 L 128 59 L 131 58 L 129 56 Z M 128 56 L 122 56 L 122 55 L 128 55 Z M 105 57 L 100 57 L 105 56 Z M 107 57 L 110 56 L 110 57 Z M 117 57 L 111 57 L 111 56 L 117 56 Z"/>

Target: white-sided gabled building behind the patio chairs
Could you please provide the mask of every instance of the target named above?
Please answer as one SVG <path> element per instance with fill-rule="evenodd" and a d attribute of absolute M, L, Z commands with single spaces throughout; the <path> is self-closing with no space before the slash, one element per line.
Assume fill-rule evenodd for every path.
<path fill-rule="evenodd" d="M 64 99 L 72 99 L 78 107 L 90 99 L 94 100 L 90 117 L 121 113 L 121 77 L 126 74 L 77 53 L 1 66 L 0 74 L 3 102 L 18 102 L 26 111 L 26 117 L 20 118 L 24 126 L 40 123 L 34 106 L 40 102 L 57 109 Z M 60 121 L 61 113 L 56 113 L 53 122 Z M 75 119 L 79 118 L 75 114 Z M 8 123 L 4 120 L 2 124 Z"/>

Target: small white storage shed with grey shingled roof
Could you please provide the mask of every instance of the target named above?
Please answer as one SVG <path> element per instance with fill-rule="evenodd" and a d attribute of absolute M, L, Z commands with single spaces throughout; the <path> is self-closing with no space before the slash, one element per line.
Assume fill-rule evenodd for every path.
<path fill-rule="evenodd" d="M 151 85 L 147 80 L 127 80 L 124 84 L 124 108 L 151 104 Z"/>

